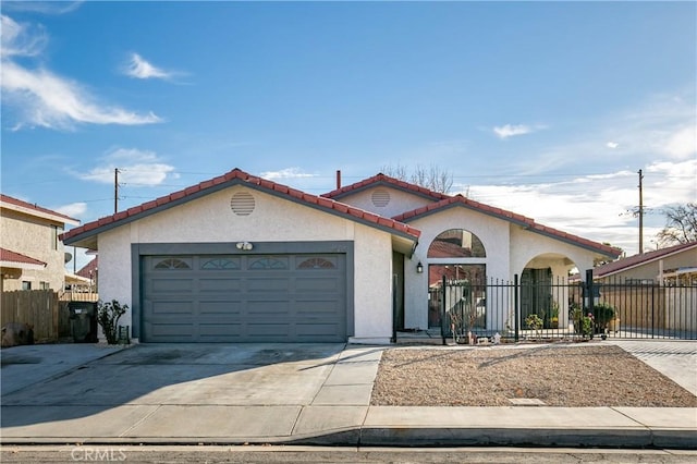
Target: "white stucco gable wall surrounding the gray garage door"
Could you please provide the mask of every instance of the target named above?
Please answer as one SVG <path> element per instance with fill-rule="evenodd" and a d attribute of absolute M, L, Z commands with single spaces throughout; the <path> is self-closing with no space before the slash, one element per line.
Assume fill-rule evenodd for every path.
<path fill-rule="evenodd" d="M 255 210 L 236 216 L 232 195 L 252 193 Z M 354 241 L 355 339 L 387 341 L 392 329 L 391 235 L 273 195 L 234 186 L 145 217 L 99 235 L 99 290 L 103 300 L 133 306 L 132 243 Z M 133 326 L 129 312 L 120 321 Z"/>

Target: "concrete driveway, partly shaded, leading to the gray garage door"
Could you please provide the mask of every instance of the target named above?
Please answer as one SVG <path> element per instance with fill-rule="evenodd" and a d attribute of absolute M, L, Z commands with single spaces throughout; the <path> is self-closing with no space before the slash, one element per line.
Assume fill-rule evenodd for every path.
<path fill-rule="evenodd" d="M 64 345 L 70 349 L 63 356 L 73 351 L 74 367 L 12 387 L 8 376 L 21 376 L 22 368 L 52 370 L 49 362 L 23 365 L 23 349 L 36 361 L 37 349 L 46 354 L 56 346 L 3 351 L 3 441 L 254 441 L 355 428 L 365 418 L 382 351 L 344 344 L 142 344 L 102 347 L 111 351 L 99 357 L 99 347 Z M 98 358 L 85 363 L 83 349 Z"/>

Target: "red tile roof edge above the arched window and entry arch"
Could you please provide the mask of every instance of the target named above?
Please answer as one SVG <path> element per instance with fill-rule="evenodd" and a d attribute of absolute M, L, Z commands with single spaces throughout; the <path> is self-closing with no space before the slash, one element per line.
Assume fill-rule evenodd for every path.
<path fill-rule="evenodd" d="M 571 243 L 573 245 L 582 246 L 587 249 L 596 251 L 607 256 L 617 257 L 622 253 L 621 249 L 614 248 L 609 245 L 603 245 L 598 242 L 594 242 L 588 239 L 580 237 L 578 235 L 573 235 L 558 229 L 553 229 L 547 225 L 539 224 L 535 222 L 534 219 L 527 218 L 523 215 L 517 215 L 515 212 L 508 211 L 505 209 L 497 208 L 493 206 L 488 206 L 479 202 L 475 202 L 473 199 L 466 198 L 462 195 L 455 195 L 452 197 L 448 197 L 437 203 L 432 203 L 430 205 L 414 209 L 413 211 L 407 211 L 402 215 L 395 216 L 394 220 L 400 222 L 408 222 L 411 220 L 417 219 L 419 217 L 424 217 L 430 215 L 436 211 L 440 211 L 445 208 L 450 208 L 453 206 L 464 206 L 469 209 L 477 210 L 485 215 L 493 216 L 516 224 L 522 225 L 526 230 L 530 232 L 537 232 L 543 235 L 551 236 L 553 239 L 562 240 L 564 242 Z"/>

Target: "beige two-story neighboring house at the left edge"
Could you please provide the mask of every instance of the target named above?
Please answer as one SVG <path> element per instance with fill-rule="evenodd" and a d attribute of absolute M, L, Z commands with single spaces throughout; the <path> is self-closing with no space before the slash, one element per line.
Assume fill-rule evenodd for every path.
<path fill-rule="evenodd" d="M 1 290 L 60 291 L 65 252 L 59 235 L 80 221 L 0 194 Z"/>

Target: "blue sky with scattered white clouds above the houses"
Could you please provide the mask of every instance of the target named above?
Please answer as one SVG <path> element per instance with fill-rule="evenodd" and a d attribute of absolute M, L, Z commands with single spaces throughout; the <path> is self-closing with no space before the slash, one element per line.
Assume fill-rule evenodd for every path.
<path fill-rule="evenodd" d="M 451 193 L 632 255 L 697 199 L 696 2 L 2 2 L 2 193 L 83 222 L 240 168 Z M 81 262 L 82 264 L 82 262 Z"/>

